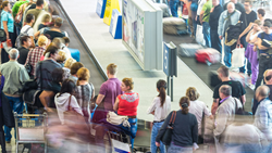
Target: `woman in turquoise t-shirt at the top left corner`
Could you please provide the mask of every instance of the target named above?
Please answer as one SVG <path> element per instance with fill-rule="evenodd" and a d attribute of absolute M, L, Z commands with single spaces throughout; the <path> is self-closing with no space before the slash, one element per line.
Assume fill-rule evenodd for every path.
<path fill-rule="evenodd" d="M 11 14 L 11 4 L 9 1 L 4 1 L 0 8 L 1 12 L 1 29 L 4 30 L 7 40 L 11 39 L 12 47 L 15 44 L 15 35 L 14 35 L 14 21 Z M 1 51 L 1 62 L 5 63 L 9 61 L 9 54 L 4 49 Z"/>

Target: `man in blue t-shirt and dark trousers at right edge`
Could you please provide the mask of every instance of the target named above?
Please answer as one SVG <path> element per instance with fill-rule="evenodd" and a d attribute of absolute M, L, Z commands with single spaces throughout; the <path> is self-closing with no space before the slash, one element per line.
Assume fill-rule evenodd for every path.
<path fill-rule="evenodd" d="M 255 51 L 257 51 L 257 47 L 259 49 L 259 74 L 258 74 L 258 78 L 256 81 L 256 87 L 255 89 L 257 89 L 260 85 L 261 85 L 261 80 L 263 79 L 263 73 L 269 69 L 272 68 L 272 53 L 271 53 L 271 47 L 264 47 L 263 46 L 263 40 L 267 41 L 272 41 L 272 24 L 268 21 L 264 22 L 262 29 L 263 33 L 258 35 L 258 40 L 255 43 Z"/>

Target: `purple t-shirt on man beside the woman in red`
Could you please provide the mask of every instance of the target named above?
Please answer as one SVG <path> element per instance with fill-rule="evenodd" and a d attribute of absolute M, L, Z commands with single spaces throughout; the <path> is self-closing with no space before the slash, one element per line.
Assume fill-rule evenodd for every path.
<path fill-rule="evenodd" d="M 113 111 L 113 105 L 118 95 L 123 94 L 121 84 L 122 82 L 118 78 L 109 78 L 102 84 L 99 94 L 104 95 L 103 105 L 106 111 Z"/>

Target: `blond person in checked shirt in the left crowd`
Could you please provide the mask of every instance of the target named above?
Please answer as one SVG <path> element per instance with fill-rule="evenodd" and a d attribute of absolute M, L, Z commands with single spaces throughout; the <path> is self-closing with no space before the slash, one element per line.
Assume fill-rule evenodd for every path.
<path fill-rule="evenodd" d="M 47 43 L 48 43 L 48 39 L 45 36 L 40 36 L 38 39 L 38 47 L 36 47 L 35 49 L 30 50 L 27 54 L 27 59 L 25 62 L 25 65 L 27 63 L 29 63 L 32 65 L 32 73 L 30 76 L 34 77 L 36 74 L 36 65 L 39 62 L 41 55 L 44 54 L 44 52 L 46 51 L 47 48 Z"/>

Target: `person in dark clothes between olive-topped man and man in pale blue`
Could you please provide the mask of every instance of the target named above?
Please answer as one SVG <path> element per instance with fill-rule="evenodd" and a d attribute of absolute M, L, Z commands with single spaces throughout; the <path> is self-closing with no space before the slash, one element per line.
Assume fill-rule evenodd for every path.
<path fill-rule="evenodd" d="M 219 39 L 218 27 L 219 27 L 219 17 L 223 12 L 223 8 L 219 4 L 219 0 L 212 0 L 213 8 L 211 9 L 209 25 L 210 25 L 210 38 L 211 38 L 211 48 L 222 52 L 221 40 Z"/>

